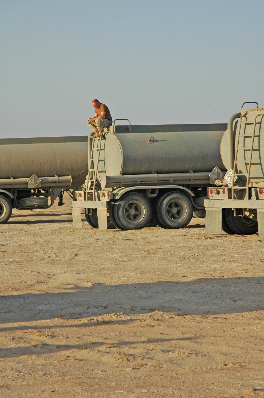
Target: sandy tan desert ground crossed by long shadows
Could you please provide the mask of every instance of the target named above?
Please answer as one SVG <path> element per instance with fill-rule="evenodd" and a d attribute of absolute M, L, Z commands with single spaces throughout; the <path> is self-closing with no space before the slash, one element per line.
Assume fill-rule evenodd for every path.
<path fill-rule="evenodd" d="M 1 398 L 264 396 L 264 238 L 77 230 L 65 199 L 0 226 Z"/>

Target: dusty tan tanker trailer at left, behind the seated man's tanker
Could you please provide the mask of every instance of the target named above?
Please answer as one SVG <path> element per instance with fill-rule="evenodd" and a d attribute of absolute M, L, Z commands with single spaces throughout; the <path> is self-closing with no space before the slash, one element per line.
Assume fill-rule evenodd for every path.
<path fill-rule="evenodd" d="M 12 209 L 46 209 L 87 175 L 87 136 L 0 139 L 0 224 Z"/>

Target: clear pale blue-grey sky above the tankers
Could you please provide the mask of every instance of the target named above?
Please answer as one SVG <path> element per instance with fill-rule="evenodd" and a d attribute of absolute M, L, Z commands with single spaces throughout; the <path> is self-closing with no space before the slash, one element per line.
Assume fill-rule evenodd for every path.
<path fill-rule="evenodd" d="M 132 125 L 264 107 L 263 16 L 263 0 L 0 0 L 0 138 L 88 135 L 94 98 Z"/>

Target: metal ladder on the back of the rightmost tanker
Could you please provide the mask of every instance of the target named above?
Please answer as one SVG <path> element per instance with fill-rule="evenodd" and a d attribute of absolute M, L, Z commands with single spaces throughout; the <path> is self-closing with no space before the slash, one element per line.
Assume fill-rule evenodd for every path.
<path fill-rule="evenodd" d="M 235 199 L 235 197 L 234 197 L 234 180 L 235 180 L 235 176 L 245 176 L 245 177 L 247 177 L 247 182 L 246 182 L 246 189 L 247 189 L 246 199 L 249 199 L 249 178 L 250 178 L 250 172 L 251 172 L 251 162 L 252 162 L 252 153 L 253 153 L 253 146 L 254 146 L 254 138 L 256 137 L 256 136 L 255 136 L 255 133 L 256 133 L 256 119 L 257 119 L 258 116 L 263 116 L 263 115 L 255 115 L 254 123 L 253 123 L 253 133 L 252 133 L 252 134 L 245 134 L 246 125 L 247 125 L 247 124 L 248 124 L 248 125 L 249 125 L 249 124 L 252 124 L 252 121 L 247 123 L 247 117 L 246 117 L 246 115 L 242 115 L 242 116 L 241 116 L 240 128 L 239 128 L 239 134 L 238 134 L 238 140 L 237 140 L 237 146 L 236 146 L 236 148 L 235 148 L 235 159 L 234 159 L 233 176 L 232 176 L 232 184 L 231 184 L 231 193 L 232 193 L 232 196 L 231 196 L 231 197 L 232 197 L 232 199 Z M 242 117 L 245 117 L 245 119 L 246 119 L 245 122 L 242 122 Z M 243 125 L 243 133 L 241 133 L 241 130 L 242 130 L 241 127 L 242 127 L 242 125 Z M 244 138 L 245 138 L 245 137 L 252 137 L 250 148 L 244 146 Z M 239 145 L 240 142 L 241 142 L 241 139 L 242 139 L 242 146 Z M 250 154 L 249 154 L 249 160 L 248 160 L 248 161 L 247 161 L 246 159 L 245 159 L 245 160 L 237 160 L 237 154 L 238 154 L 238 151 L 239 151 L 239 150 L 245 151 L 245 150 L 249 150 L 249 149 L 250 149 Z M 254 149 L 254 150 L 259 150 L 259 148 L 256 148 L 256 149 Z M 237 172 L 236 172 L 236 170 L 238 170 L 238 168 L 237 168 L 237 164 L 238 164 L 238 163 L 248 164 L 247 174 L 245 174 L 245 173 L 237 173 Z M 243 188 L 244 188 L 244 187 L 243 187 Z M 241 187 L 238 188 L 238 189 L 241 189 Z"/>

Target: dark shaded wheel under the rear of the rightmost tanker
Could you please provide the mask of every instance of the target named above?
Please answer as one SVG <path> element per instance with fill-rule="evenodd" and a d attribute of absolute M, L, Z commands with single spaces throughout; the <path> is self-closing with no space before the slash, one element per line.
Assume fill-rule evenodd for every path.
<path fill-rule="evenodd" d="M 258 231 L 258 222 L 247 217 L 235 217 L 233 209 L 226 209 L 226 221 L 234 234 L 252 235 Z"/>

